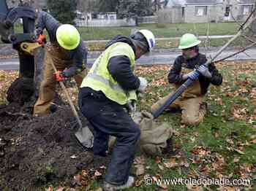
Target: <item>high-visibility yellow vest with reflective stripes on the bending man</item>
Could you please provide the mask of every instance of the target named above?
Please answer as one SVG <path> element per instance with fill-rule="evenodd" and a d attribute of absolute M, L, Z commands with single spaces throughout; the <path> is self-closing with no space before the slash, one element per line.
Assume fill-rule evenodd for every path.
<path fill-rule="evenodd" d="M 125 55 L 129 58 L 132 71 L 135 69 L 135 53 L 129 44 L 116 42 L 108 47 L 94 62 L 80 87 L 91 87 L 96 91 L 102 91 L 107 98 L 118 104 L 127 104 L 129 100 L 137 100 L 135 90 L 125 91 L 108 71 L 110 58 Z"/>

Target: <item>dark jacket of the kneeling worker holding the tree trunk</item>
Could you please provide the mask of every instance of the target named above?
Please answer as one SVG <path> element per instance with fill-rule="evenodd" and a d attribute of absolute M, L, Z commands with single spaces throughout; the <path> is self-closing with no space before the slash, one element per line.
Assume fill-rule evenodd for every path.
<path fill-rule="evenodd" d="M 186 60 L 183 55 L 179 55 L 175 62 L 173 63 L 173 67 L 170 69 L 168 74 L 168 81 L 170 83 L 182 84 L 184 80 L 182 80 L 182 69 L 196 69 L 198 66 L 206 63 L 206 55 L 198 53 L 195 58 Z M 209 71 L 211 72 L 211 78 L 208 79 L 203 77 L 203 75 L 199 76 L 200 88 L 202 95 L 207 93 L 208 86 L 210 84 L 213 85 L 221 85 L 222 84 L 222 75 L 219 74 L 219 71 L 216 69 L 213 63 L 208 66 Z"/>

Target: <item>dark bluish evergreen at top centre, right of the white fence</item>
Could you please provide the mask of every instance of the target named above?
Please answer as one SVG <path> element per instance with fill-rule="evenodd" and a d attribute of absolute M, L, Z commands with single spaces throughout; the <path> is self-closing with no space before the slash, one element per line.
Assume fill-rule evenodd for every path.
<path fill-rule="evenodd" d="M 153 15 L 150 0 L 120 0 L 118 17 L 143 17 L 147 15 Z"/>

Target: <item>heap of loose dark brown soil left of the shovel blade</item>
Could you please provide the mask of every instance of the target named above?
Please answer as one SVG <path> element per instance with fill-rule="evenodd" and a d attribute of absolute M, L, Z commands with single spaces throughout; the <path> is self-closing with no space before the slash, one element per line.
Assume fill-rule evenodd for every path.
<path fill-rule="evenodd" d="M 17 79 L 7 93 L 10 104 L 0 106 L 0 190 L 35 190 L 59 180 L 71 183 L 79 170 L 107 165 L 108 157 L 94 157 L 76 141 L 69 106 L 48 116 L 31 116 L 27 103 L 34 102 L 34 87 L 28 85 L 27 79 Z"/>

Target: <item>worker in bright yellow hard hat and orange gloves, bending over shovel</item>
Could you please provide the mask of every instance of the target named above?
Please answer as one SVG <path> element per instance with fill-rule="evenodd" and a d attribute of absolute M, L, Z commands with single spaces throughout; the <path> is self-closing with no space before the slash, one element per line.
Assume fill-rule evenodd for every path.
<path fill-rule="evenodd" d="M 45 46 L 43 80 L 39 88 L 39 98 L 34 105 L 34 115 L 49 114 L 58 81 L 75 77 L 78 87 L 86 73 L 87 51 L 78 30 L 69 24 L 61 24 L 48 12 L 40 12 L 36 25 L 37 42 L 44 44 L 43 30 L 48 31 L 50 42 Z M 57 72 L 54 72 L 53 66 Z"/>

